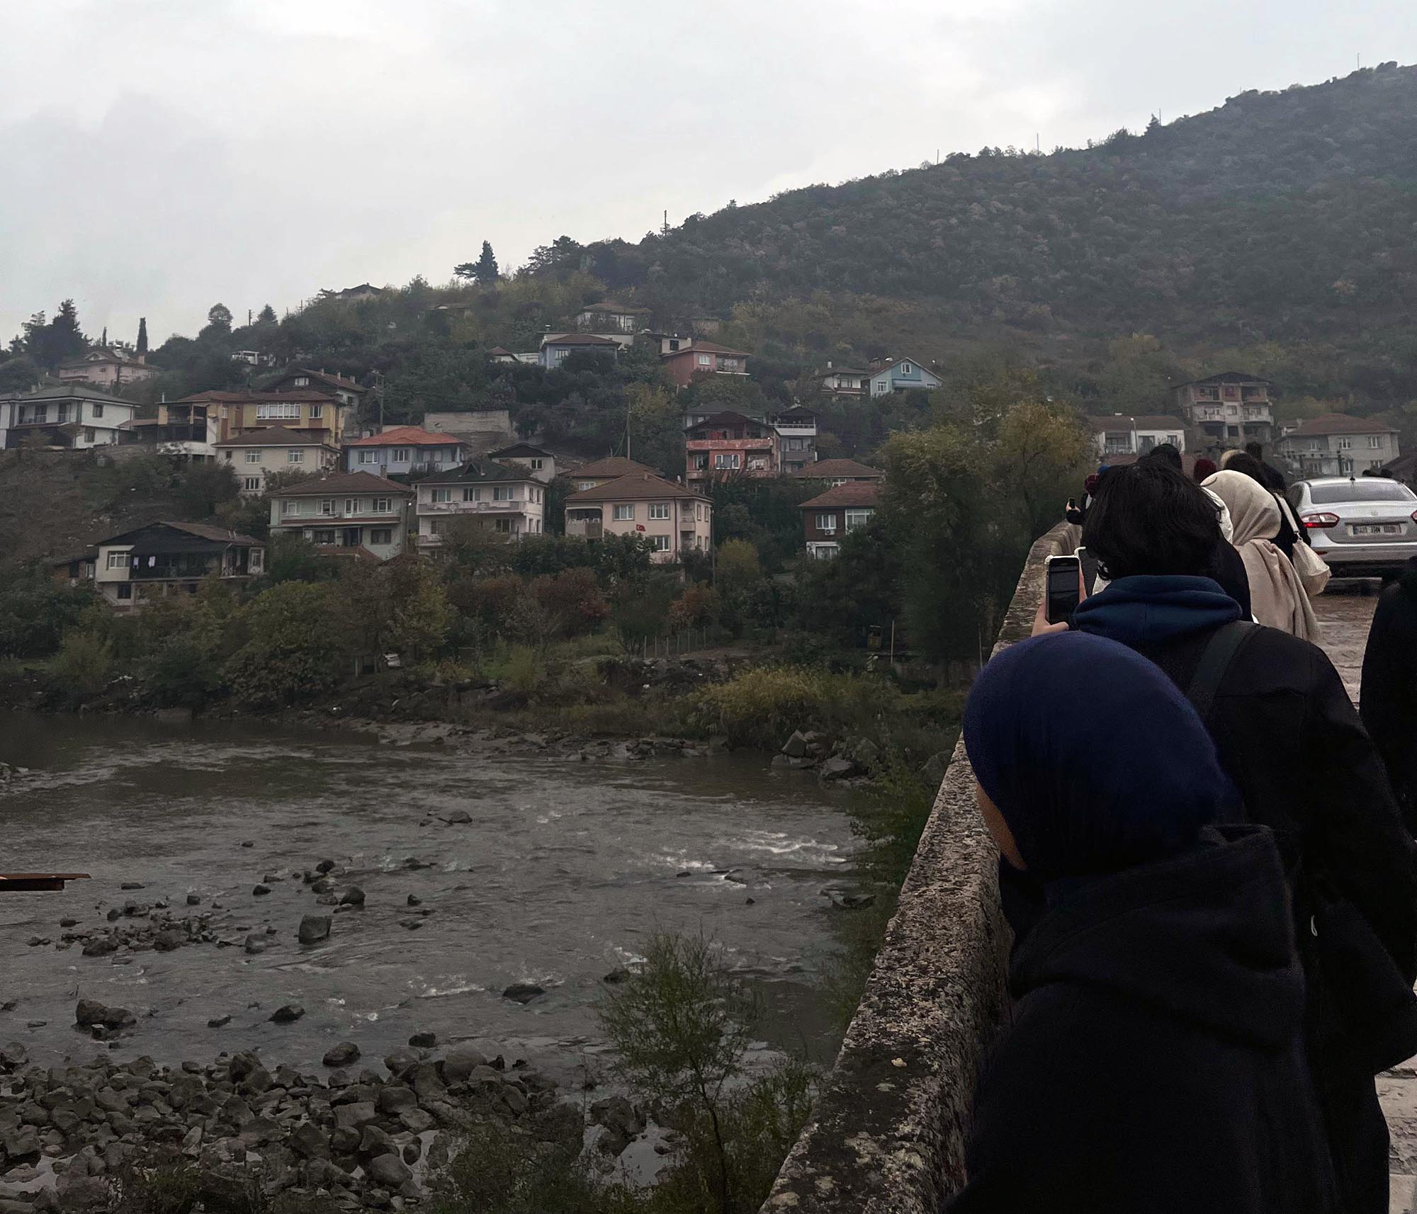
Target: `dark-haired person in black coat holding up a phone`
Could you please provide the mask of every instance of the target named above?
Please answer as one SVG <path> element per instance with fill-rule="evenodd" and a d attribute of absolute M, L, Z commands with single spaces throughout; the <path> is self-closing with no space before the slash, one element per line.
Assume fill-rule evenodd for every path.
<path fill-rule="evenodd" d="M 1124 467 L 1098 486 L 1083 543 L 1112 581 L 1078 606 L 1073 626 L 1127 645 L 1186 690 L 1216 632 L 1240 612 L 1203 577 L 1223 543 L 1214 509 L 1172 476 Z M 1390 1017 L 1362 1031 L 1342 1023 L 1336 1009 L 1348 983 L 1319 966 L 1314 918 L 1319 891 L 1332 890 L 1356 908 L 1410 987 L 1417 849 L 1408 824 L 1333 663 L 1306 640 L 1251 626 L 1223 673 L 1207 727 L 1248 820 L 1274 830 L 1284 861 L 1309 979 L 1309 1062 L 1343 1208 L 1386 1214 L 1389 1138 L 1373 1077 L 1417 1053 L 1417 1024 L 1408 1006 L 1393 1006 Z M 1376 1041 L 1397 1057 L 1374 1062 Z"/>

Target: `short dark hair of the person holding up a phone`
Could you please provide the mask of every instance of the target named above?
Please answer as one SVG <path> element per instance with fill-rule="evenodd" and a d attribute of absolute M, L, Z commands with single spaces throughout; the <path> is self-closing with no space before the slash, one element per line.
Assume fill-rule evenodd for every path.
<path fill-rule="evenodd" d="M 1214 499 L 1161 459 L 1110 469 L 1083 523 L 1083 544 L 1110 581 L 1210 577 L 1221 543 Z"/>

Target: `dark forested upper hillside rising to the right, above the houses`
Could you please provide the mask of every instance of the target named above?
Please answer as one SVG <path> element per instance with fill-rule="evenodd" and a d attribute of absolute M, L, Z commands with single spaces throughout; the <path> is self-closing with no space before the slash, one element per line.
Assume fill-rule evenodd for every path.
<path fill-rule="evenodd" d="M 1145 135 L 942 164 L 589 245 L 657 312 L 850 292 L 961 323 L 1263 340 L 1417 309 L 1417 68 L 1247 92 Z"/>

